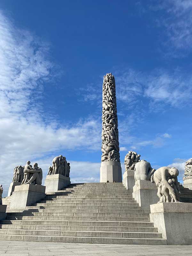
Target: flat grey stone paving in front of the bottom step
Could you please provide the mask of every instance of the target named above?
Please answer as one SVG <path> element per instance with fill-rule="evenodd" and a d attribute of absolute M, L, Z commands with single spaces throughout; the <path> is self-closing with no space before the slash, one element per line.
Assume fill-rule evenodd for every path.
<path fill-rule="evenodd" d="M 0 241 L 0 256 L 192 255 L 192 245 L 75 244 Z"/>

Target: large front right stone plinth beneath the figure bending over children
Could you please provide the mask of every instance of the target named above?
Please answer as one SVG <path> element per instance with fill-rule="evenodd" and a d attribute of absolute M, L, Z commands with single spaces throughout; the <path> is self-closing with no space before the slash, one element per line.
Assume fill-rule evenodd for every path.
<path fill-rule="evenodd" d="M 150 221 L 167 244 L 192 244 L 192 204 L 159 203 L 150 205 Z"/>

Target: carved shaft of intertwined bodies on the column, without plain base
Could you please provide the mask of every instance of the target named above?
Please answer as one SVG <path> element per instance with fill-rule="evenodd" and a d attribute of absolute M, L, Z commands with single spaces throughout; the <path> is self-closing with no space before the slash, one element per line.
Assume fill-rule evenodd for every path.
<path fill-rule="evenodd" d="M 109 73 L 103 79 L 101 162 L 120 162 L 117 126 L 115 78 Z"/>

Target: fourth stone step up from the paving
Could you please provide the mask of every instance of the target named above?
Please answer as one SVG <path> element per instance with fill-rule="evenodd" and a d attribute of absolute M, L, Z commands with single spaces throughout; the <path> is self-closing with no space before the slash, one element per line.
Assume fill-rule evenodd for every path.
<path fill-rule="evenodd" d="M 153 223 L 149 221 L 0 220 L 0 224 L 153 227 Z"/>

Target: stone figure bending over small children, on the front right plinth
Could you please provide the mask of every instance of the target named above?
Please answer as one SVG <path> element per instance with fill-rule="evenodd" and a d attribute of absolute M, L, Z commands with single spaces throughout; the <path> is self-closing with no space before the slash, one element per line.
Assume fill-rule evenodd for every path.
<path fill-rule="evenodd" d="M 164 166 L 154 172 L 153 178 L 158 186 L 157 196 L 159 202 L 180 202 L 180 188 L 177 180 L 179 175 L 178 169 L 175 167 Z"/>

